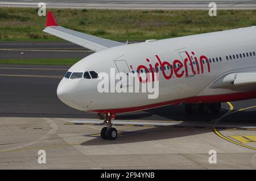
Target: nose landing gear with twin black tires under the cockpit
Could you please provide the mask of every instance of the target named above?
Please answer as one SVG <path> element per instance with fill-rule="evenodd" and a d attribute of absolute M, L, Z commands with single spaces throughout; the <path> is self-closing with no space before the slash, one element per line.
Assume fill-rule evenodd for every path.
<path fill-rule="evenodd" d="M 117 138 L 117 129 L 112 128 L 112 123 L 111 120 L 114 118 L 114 115 L 111 113 L 106 113 L 105 115 L 105 120 L 104 120 L 104 125 L 106 127 L 101 129 L 101 137 L 106 140 L 115 140 Z"/>

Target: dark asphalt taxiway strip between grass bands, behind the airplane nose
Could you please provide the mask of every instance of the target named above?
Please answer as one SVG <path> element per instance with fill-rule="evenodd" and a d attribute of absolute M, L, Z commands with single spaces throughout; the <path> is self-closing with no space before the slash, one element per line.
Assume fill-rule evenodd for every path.
<path fill-rule="evenodd" d="M 21 54 L 24 52 L 24 54 Z M 36 59 L 36 58 L 77 58 L 80 60 L 92 50 L 79 45 L 63 42 L 9 42 L 0 41 L 0 59 Z"/>

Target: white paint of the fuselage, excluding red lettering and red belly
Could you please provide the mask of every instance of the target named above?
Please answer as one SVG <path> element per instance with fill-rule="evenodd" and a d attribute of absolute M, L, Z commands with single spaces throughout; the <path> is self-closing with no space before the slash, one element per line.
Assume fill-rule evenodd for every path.
<path fill-rule="evenodd" d="M 195 52 L 198 61 L 200 56 L 211 59 L 221 57 L 222 61 L 210 63 L 210 72 L 208 72 L 207 64 L 204 64 L 204 73 L 201 73 L 199 65 L 200 74 L 192 77 L 185 77 L 184 74 L 181 78 L 177 78 L 174 74 L 173 78 L 167 80 L 159 71 L 159 96 L 157 99 L 148 99 L 146 93 L 100 93 L 97 91 L 100 80 L 85 78 L 63 78 L 57 89 L 57 94 L 68 106 L 82 111 L 94 111 L 140 107 L 193 96 L 234 93 L 236 91 L 210 89 L 209 86 L 226 74 L 256 70 L 256 56 L 249 55 L 249 57 L 233 59 L 233 54 L 236 56 L 240 53 L 256 52 L 256 27 L 121 45 L 93 53 L 77 62 L 68 71 L 93 70 L 97 73 L 110 74 L 110 68 L 115 68 L 117 71 L 114 63 L 116 60 L 125 60 L 129 68 L 132 65 L 133 70 L 136 71 L 139 65 L 144 65 L 147 68 L 149 68 L 149 64 L 154 66 L 158 62 L 155 55 L 172 65 L 176 59 L 183 62 L 179 52 L 184 51 L 187 51 L 190 56 L 192 56 L 192 51 Z M 232 60 L 226 60 L 226 56 L 229 55 L 232 56 Z M 149 63 L 146 58 L 150 60 Z M 196 70 L 196 66 L 193 66 Z M 189 71 L 191 71 L 191 67 L 188 65 L 188 73 L 191 73 Z"/>

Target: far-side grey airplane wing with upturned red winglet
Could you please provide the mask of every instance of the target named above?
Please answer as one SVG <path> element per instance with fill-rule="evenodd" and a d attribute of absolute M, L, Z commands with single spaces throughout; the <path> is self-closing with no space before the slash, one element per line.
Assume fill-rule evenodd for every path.
<path fill-rule="evenodd" d="M 44 28 L 43 31 L 51 35 L 60 37 L 61 39 L 80 45 L 81 47 L 93 50 L 94 52 L 98 52 L 100 50 L 110 47 L 125 45 L 124 43 L 120 43 L 118 41 L 102 39 L 101 37 L 88 35 L 58 26 L 56 19 L 51 11 L 48 11 L 47 13 L 46 28 Z"/>

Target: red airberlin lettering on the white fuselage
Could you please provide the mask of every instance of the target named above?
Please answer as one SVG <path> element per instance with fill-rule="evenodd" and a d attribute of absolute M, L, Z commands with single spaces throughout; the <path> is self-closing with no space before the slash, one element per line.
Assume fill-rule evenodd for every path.
<path fill-rule="evenodd" d="M 172 62 L 172 65 L 167 62 L 167 61 L 162 61 L 161 58 L 156 54 L 155 58 L 158 62 L 156 62 L 156 64 L 154 65 L 154 68 L 151 64 L 149 65 L 149 69 L 145 66 L 145 65 L 139 65 L 137 68 L 137 72 L 140 72 L 141 69 L 144 69 L 147 73 L 146 79 L 143 79 L 141 77 L 140 74 L 138 74 L 139 77 L 139 81 L 142 83 L 146 83 L 146 82 L 150 82 L 150 77 L 152 77 L 152 82 L 155 81 L 155 74 L 154 74 L 154 70 L 155 73 L 158 73 L 158 67 L 160 66 L 160 68 L 162 69 L 162 74 L 163 77 L 167 80 L 171 79 L 172 77 L 177 77 L 177 78 L 181 78 L 181 77 L 187 77 L 189 74 L 189 70 L 191 70 L 192 74 L 196 75 L 196 74 L 203 74 L 204 73 L 204 65 L 207 65 L 207 69 L 208 69 L 208 73 L 210 72 L 210 63 L 209 60 L 206 56 L 201 55 L 199 57 L 199 59 L 197 59 L 197 57 L 195 56 L 194 52 L 191 52 L 192 56 L 193 56 L 193 60 L 194 63 L 191 59 L 192 56 L 189 55 L 189 53 L 186 51 L 185 54 L 187 55 L 186 58 L 184 58 L 184 61 L 180 61 L 180 60 L 174 60 Z M 146 58 L 146 61 L 148 63 L 150 63 L 150 60 L 148 58 Z M 195 66 L 193 66 L 193 64 Z M 169 66 L 170 68 L 170 74 L 166 73 L 166 67 L 164 68 L 164 66 Z M 150 76 L 151 73 L 151 76 Z"/>

